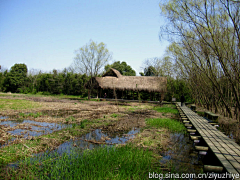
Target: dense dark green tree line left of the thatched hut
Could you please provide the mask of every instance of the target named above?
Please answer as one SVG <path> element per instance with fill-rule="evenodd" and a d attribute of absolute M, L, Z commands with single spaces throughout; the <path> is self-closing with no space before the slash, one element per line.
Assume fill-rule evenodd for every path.
<path fill-rule="evenodd" d="M 8 72 L 0 73 L 0 90 L 13 93 L 68 94 L 86 96 L 84 84 L 89 78 L 83 74 L 53 70 L 49 73 L 28 73 L 25 64 L 15 64 Z"/>

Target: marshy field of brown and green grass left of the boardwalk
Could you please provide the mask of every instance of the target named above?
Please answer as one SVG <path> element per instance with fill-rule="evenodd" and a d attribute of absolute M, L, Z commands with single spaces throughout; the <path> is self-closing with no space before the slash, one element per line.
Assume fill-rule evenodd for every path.
<path fill-rule="evenodd" d="M 1 97 L 2 104 L 8 103 L 1 111 L 1 178 L 88 179 L 91 174 L 95 179 L 144 179 L 150 171 L 173 169 L 160 163 L 160 152 L 171 148 L 171 132 L 184 132 L 174 105 L 79 102 L 19 94 Z M 22 102 L 29 103 L 19 106 Z M 11 127 L 10 121 L 18 124 Z M 62 128 L 53 125 L 51 131 L 39 135 L 33 122 Z M 26 132 L 10 133 L 14 132 L 11 128 Z M 47 129 L 49 124 L 38 128 Z M 65 146 L 69 149 L 60 150 Z"/>

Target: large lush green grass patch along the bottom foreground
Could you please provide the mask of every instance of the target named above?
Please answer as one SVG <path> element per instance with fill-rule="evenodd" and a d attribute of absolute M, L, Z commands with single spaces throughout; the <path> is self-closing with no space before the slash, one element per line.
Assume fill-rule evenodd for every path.
<path fill-rule="evenodd" d="M 9 169 L 3 178 L 18 179 L 147 179 L 154 166 L 153 153 L 131 145 L 73 150 L 70 155 L 45 155 L 25 159 L 19 170 Z M 1 176 L 0 176 L 1 178 Z"/>

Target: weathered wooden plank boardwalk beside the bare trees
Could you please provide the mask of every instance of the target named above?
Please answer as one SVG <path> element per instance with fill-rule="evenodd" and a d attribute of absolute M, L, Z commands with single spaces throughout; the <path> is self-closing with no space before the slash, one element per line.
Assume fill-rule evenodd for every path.
<path fill-rule="evenodd" d="M 187 106 L 181 107 L 181 103 L 177 103 L 177 106 L 187 116 L 208 147 L 222 163 L 222 166 L 229 173 L 240 174 L 240 146 Z"/>

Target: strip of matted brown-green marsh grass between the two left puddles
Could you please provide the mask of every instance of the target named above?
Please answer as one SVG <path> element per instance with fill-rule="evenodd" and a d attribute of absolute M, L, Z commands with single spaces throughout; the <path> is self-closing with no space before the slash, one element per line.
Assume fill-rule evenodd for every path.
<path fill-rule="evenodd" d="M 101 119 L 83 120 L 80 124 L 73 123 L 67 127 L 51 134 L 42 135 L 33 140 L 19 139 L 17 143 L 7 145 L 0 149 L 0 171 L 1 165 L 21 160 L 31 156 L 32 153 L 46 151 L 54 148 L 72 137 L 80 137 L 91 128 L 108 125 L 110 122 L 102 122 Z"/>

